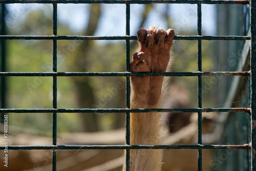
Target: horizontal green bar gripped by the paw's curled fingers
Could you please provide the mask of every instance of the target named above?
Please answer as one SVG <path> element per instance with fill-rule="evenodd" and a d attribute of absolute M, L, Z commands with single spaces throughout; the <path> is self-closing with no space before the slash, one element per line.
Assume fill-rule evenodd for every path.
<path fill-rule="evenodd" d="M 0 35 L 0 39 L 13 40 L 137 40 L 136 36 L 12 36 Z M 175 36 L 174 40 L 250 40 L 250 36 Z"/>

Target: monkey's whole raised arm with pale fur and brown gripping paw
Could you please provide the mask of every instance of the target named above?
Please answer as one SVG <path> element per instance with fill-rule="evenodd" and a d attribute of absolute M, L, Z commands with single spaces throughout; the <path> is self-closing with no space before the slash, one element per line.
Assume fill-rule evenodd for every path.
<path fill-rule="evenodd" d="M 157 30 L 150 27 L 137 32 L 139 40 L 138 53 L 133 55 L 132 72 L 165 72 L 170 64 L 170 48 L 173 45 L 174 31 Z M 167 40 L 164 40 L 164 37 Z M 158 43 L 160 42 L 160 43 Z M 131 108 L 160 108 L 164 90 L 163 76 L 131 77 Z M 167 85 L 164 83 L 164 85 Z M 161 113 L 131 113 L 131 145 L 161 145 Z M 130 150 L 131 171 L 160 171 L 163 150 Z M 125 170 L 125 164 L 123 167 Z"/>

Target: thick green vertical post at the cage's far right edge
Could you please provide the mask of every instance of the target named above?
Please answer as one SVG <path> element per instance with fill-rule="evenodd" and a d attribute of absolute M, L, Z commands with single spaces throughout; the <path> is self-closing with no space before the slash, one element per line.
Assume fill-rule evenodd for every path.
<path fill-rule="evenodd" d="M 256 2 L 250 1 L 251 28 L 251 170 L 256 170 Z"/>

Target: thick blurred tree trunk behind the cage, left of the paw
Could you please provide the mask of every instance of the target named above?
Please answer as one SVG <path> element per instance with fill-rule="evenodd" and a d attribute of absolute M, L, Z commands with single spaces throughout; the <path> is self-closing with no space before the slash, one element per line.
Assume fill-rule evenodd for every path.
<path fill-rule="evenodd" d="M 97 29 L 98 20 L 101 14 L 100 4 L 92 4 L 90 8 L 90 17 L 87 29 L 84 35 L 93 36 Z M 71 70 L 79 72 L 86 72 L 87 58 L 89 57 L 90 49 L 92 48 L 91 41 L 82 41 L 74 55 L 73 63 L 70 65 Z M 92 108 L 95 104 L 95 97 L 93 94 L 93 87 L 90 84 L 90 77 L 72 77 L 74 86 L 76 87 L 77 104 L 79 108 Z M 99 125 L 97 115 L 95 113 L 81 113 L 83 120 L 83 130 L 88 132 L 98 131 Z"/>

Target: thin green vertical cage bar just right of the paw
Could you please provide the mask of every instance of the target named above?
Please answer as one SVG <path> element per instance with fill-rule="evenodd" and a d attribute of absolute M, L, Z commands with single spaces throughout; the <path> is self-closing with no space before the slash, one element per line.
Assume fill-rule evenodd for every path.
<path fill-rule="evenodd" d="M 202 35 L 202 9 L 197 4 L 197 34 Z M 198 71 L 202 71 L 202 40 L 198 40 Z M 202 108 L 202 77 L 198 76 L 198 108 Z M 198 144 L 202 144 L 202 112 L 198 112 Z M 202 149 L 198 149 L 198 170 L 202 170 Z"/>

